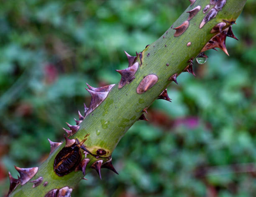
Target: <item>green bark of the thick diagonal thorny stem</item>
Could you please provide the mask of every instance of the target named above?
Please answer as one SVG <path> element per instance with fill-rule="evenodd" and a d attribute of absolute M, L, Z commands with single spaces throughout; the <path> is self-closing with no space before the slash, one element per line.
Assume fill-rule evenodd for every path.
<path fill-rule="evenodd" d="M 107 98 L 92 113 L 87 115 L 79 125 L 78 132 L 70 138 L 78 138 L 79 141 L 82 141 L 84 136 L 90 134 L 87 137 L 87 141 L 84 142 L 87 149 L 92 154 L 95 154 L 97 149 L 102 148 L 107 152 L 109 151 L 106 156 L 110 156 L 126 131 L 143 114 L 142 110 L 145 107 L 149 107 L 168 84 L 172 82 L 168 79 L 175 73 L 180 74 L 187 67 L 187 61 L 192 57 L 196 57 L 205 44 L 215 35 L 210 33 L 211 29 L 216 24 L 223 22 L 223 19 L 227 21 L 236 20 L 246 0 L 227 0 L 227 3 L 218 12 L 217 16 L 200 29 L 200 23 L 205 16 L 202 10 L 209 3 L 210 0 L 197 0 L 192 6 L 189 5 L 187 10 L 174 22 L 172 27 L 164 32 L 157 41 L 142 51 L 142 64 L 138 67 L 135 79 L 121 89 L 118 89 L 118 84 L 116 84 L 110 90 Z M 189 15 L 187 11 L 192 10 L 192 8 L 198 5 L 201 6 L 201 9 L 189 21 L 187 30 L 181 36 L 174 37 L 175 30 L 173 28 L 180 26 L 187 20 Z M 212 7 L 213 5 L 211 5 L 210 9 Z M 188 42 L 191 42 L 191 46 L 187 46 Z M 139 58 L 136 61 L 139 64 L 141 63 Z M 169 66 L 166 66 L 166 64 L 169 64 Z M 155 74 L 158 77 L 158 81 L 147 92 L 138 94 L 136 92 L 138 84 L 148 74 Z M 73 188 L 82 180 L 84 176 L 81 171 L 72 171 L 63 177 L 55 174 L 53 170 L 54 159 L 64 146 L 63 143 L 56 148 L 49 155 L 49 158 L 39 166 L 38 172 L 31 179 L 34 180 L 38 177 L 43 177 L 43 183 L 45 181 L 48 182 L 46 187 L 40 184 L 38 187 L 32 188 L 33 183 L 27 182 L 23 186 L 19 185 L 10 196 L 43 197 L 51 189 L 59 189 L 65 186 Z M 96 159 L 92 155 L 88 155 L 87 158 L 90 159 L 90 163 L 86 169 L 88 173 L 91 170 L 91 164 L 99 159 Z M 103 159 L 103 162 L 105 161 L 107 159 Z"/>

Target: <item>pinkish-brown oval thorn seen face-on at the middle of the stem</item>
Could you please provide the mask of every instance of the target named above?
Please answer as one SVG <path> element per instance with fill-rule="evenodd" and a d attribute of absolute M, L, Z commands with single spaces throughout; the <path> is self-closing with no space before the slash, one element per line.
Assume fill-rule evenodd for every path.
<path fill-rule="evenodd" d="M 155 74 L 149 74 L 144 79 L 141 80 L 140 84 L 137 87 L 136 92 L 138 94 L 143 94 L 151 87 L 153 87 L 158 81 L 158 77 Z"/>

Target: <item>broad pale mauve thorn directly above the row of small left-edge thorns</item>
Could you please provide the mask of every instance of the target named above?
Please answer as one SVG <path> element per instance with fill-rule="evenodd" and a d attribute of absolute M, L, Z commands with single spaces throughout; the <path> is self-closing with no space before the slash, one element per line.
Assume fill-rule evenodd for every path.
<path fill-rule="evenodd" d="M 93 110 L 96 109 L 96 107 L 98 107 L 100 105 L 100 103 L 103 102 L 103 100 L 105 100 L 105 98 L 108 96 L 108 92 L 94 92 L 94 91 L 89 90 L 87 88 L 85 88 L 85 89 L 92 96 L 92 100 L 91 100 L 89 109 L 87 111 L 87 114 L 90 114 Z"/>

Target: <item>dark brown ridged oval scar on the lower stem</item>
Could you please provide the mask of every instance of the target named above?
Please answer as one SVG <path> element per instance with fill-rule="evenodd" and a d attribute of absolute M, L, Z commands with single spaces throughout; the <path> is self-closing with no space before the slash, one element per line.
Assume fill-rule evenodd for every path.
<path fill-rule="evenodd" d="M 72 146 L 64 147 L 59 151 L 57 156 L 54 159 L 54 171 L 58 176 L 64 176 L 73 171 L 81 161 L 81 152 L 80 148 L 84 151 L 87 151 L 86 148 L 82 145 L 84 141 L 79 143 L 74 143 Z"/>

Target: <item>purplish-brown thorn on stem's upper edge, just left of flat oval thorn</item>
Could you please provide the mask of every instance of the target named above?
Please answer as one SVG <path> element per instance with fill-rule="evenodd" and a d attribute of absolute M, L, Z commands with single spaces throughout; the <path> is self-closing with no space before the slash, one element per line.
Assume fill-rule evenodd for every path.
<path fill-rule="evenodd" d="M 131 67 L 123 70 L 115 70 L 121 74 L 121 80 L 118 84 L 118 88 L 122 88 L 125 84 L 129 84 L 135 78 L 134 75 L 138 70 L 138 62 L 135 62 Z"/>

